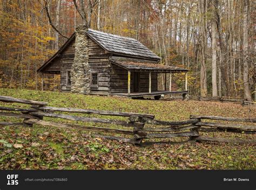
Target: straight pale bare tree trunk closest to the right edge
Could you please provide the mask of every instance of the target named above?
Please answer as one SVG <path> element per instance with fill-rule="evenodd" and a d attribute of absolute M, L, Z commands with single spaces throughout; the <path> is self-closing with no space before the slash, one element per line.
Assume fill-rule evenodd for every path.
<path fill-rule="evenodd" d="M 248 81 L 248 0 L 244 0 L 244 98 L 252 101 L 251 92 Z"/>

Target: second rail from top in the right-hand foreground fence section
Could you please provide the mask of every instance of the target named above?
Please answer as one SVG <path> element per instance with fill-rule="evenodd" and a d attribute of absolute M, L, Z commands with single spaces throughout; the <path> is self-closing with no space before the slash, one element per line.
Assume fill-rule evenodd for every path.
<path fill-rule="evenodd" d="M 223 124 L 223 123 L 210 123 L 210 122 L 198 122 L 194 125 L 197 126 L 213 126 L 217 128 L 225 129 L 240 129 L 240 130 L 256 130 L 256 125 L 242 125 L 242 124 Z"/>

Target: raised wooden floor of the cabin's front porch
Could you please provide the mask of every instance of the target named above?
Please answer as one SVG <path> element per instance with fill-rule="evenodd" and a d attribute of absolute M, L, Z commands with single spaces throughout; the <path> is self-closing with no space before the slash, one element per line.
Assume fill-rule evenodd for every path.
<path fill-rule="evenodd" d="M 149 92 L 140 92 L 140 93 L 110 93 L 110 95 L 117 96 L 128 96 L 128 97 L 143 97 L 143 96 L 157 96 L 161 94 L 187 94 L 187 91 L 168 91 L 168 90 L 157 90 L 152 91 L 151 94 Z"/>

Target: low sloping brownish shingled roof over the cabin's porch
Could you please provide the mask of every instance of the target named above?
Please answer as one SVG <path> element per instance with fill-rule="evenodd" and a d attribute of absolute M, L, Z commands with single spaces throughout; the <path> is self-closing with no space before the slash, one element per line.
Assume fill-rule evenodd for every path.
<path fill-rule="evenodd" d="M 129 71 L 146 71 L 146 72 L 156 72 L 156 73 L 185 73 L 188 72 L 188 69 L 168 66 L 168 65 L 160 65 L 160 64 L 152 64 L 147 62 L 134 62 L 134 61 L 119 61 L 119 60 L 111 60 L 111 63 L 127 69 Z"/>

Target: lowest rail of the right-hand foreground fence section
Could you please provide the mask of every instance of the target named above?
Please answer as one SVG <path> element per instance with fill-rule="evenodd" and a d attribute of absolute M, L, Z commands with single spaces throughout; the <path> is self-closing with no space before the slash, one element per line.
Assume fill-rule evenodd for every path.
<path fill-rule="evenodd" d="M 241 138 L 233 138 L 233 139 L 227 139 L 227 138 L 217 138 L 217 137 L 206 137 L 206 136 L 198 136 L 198 137 L 192 137 L 193 140 L 197 141 L 210 141 L 210 142 L 221 142 L 221 143 L 252 143 L 256 144 L 255 139 L 241 139 Z"/>

